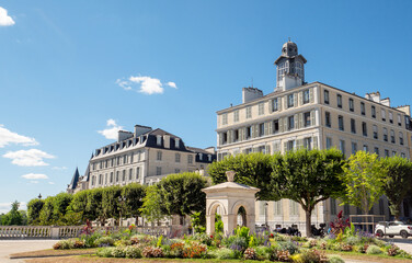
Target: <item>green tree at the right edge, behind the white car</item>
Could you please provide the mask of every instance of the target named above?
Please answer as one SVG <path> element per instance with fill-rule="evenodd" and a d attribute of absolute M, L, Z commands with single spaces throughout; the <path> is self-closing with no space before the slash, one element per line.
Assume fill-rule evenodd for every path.
<path fill-rule="evenodd" d="M 381 159 L 385 178 L 382 190 L 389 201 L 390 213 L 399 220 L 400 207 L 412 184 L 412 162 L 399 156 Z"/>

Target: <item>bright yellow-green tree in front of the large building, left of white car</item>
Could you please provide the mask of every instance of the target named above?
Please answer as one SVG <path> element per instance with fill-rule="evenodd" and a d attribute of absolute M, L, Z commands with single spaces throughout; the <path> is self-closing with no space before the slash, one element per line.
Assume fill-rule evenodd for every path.
<path fill-rule="evenodd" d="M 365 215 L 384 194 L 385 168 L 376 153 L 357 151 L 343 165 L 341 180 L 346 194 L 343 204 L 359 207 Z"/>

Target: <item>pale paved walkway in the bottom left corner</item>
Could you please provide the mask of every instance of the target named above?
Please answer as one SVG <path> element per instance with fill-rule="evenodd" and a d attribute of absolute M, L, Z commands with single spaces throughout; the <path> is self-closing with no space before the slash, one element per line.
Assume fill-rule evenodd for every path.
<path fill-rule="evenodd" d="M 20 252 L 52 249 L 56 240 L 0 240 L 0 263 L 23 263 L 23 260 L 10 260 L 9 255 Z"/>

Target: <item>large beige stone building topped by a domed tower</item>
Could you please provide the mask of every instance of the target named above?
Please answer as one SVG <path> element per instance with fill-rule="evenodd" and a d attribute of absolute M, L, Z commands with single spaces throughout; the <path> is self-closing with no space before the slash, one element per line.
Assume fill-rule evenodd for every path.
<path fill-rule="evenodd" d="M 243 88 L 242 103 L 217 112 L 218 160 L 228 155 L 285 152 L 288 150 L 335 147 L 346 157 L 357 150 L 380 157 L 411 157 L 410 107 L 392 107 L 379 92 L 359 96 L 321 82 L 305 82 L 306 59 L 297 45 L 284 44 L 276 59 L 277 84 L 263 95 L 255 88 Z M 354 207 L 329 199 L 313 211 L 313 224 L 329 222 L 341 210 L 359 214 Z M 370 211 L 389 217 L 381 198 Z M 409 213 L 409 211 L 408 211 Z M 405 213 L 405 214 L 408 214 Z M 298 225 L 305 229 L 305 213 L 295 202 L 258 202 L 256 222 Z M 407 215 L 409 216 L 409 215 Z"/>

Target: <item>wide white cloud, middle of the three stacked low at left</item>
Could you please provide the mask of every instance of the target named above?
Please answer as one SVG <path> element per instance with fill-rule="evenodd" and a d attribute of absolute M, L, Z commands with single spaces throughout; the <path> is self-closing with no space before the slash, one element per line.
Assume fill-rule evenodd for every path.
<path fill-rule="evenodd" d="M 9 151 L 3 155 L 3 157 L 12 159 L 11 163 L 19 167 L 45 167 L 48 165 L 48 163 L 46 163 L 43 159 L 56 158 L 37 149 Z"/>

